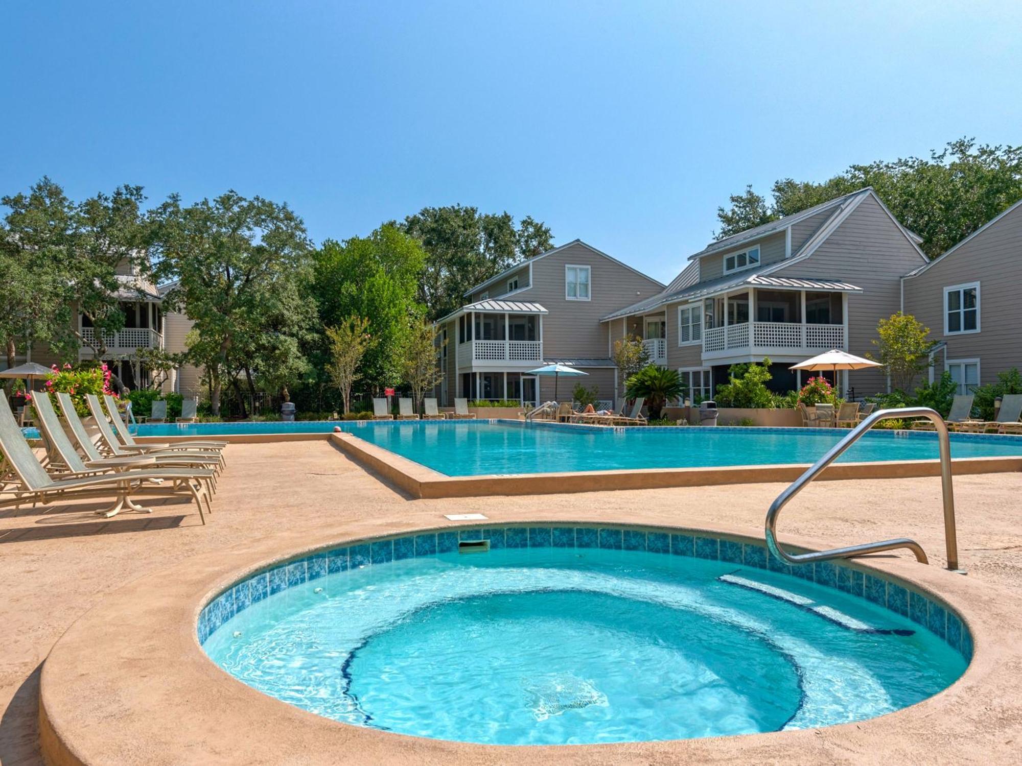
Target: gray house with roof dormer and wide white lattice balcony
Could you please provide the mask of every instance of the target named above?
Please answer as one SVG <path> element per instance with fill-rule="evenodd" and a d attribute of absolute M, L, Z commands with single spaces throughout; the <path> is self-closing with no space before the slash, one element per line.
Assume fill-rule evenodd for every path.
<path fill-rule="evenodd" d="M 862 189 L 710 243 L 661 293 L 605 315 L 607 342 L 642 337 L 654 363 L 679 370 L 693 400 L 727 382 L 731 365 L 763 357 L 771 387 L 788 391 L 802 383 L 791 365 L 831 348 L 873 348 L 877 322 L 901 306 L 900 277 L 927 262 L 919 242 Z M 886 386 L 875 370 L 838 378 L 845 394 Z"/>

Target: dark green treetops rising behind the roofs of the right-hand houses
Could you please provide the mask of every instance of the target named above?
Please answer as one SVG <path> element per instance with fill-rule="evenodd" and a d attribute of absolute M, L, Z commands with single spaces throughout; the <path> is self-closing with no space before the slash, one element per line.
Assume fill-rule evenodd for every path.
<path fill-rule="evenodd" d="M 716 238 L 866 186 L 923 238 L 923 251 L 936 257 L 1022 199 L 1022 146 L 977 146 L 974 139 L 962 138 L 931 151 L 927 159 L 853 164 L 822 183 L 781 179 L 774 184 L 770 205 L 757 205 L 755 199 L 762 198 L 747 187 L 744 195 L 731 197 L 730 208 L 718 208 L 722 228 Z"/>

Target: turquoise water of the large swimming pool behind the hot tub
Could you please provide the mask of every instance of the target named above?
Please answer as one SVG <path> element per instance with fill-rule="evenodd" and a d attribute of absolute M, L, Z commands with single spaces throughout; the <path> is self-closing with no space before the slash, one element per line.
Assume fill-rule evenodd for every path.
<path fill-rule="evenodd" d="M 448 476 L 812 463 L 847 434 L 824 428 L 608 428 L 515 421 L 144 425 L 140 435 L 326 433 L 362 439 Z M 956 434 L 954 458 L 1022 456 L 1022 438 Z M 874 431 L 842 462 L 937 458 L 934 433 Z"/>

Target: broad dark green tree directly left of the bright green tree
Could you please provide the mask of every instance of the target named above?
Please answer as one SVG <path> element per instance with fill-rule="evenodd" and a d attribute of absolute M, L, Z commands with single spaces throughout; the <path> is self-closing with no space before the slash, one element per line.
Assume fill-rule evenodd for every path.
<path fill-rule="evenodd" d="M 254 393 L 253 375 L 279 384 L 283 362 L 286 375 L 304 364 L 295 341 L 315 307 L 300 290 L 310 265 L 300 218 L 231 190 L 188 207 L 173 195 L 151 220 L 157 278 L 176 280 L 165 307 L 194 323 L 189 355 L 205 370 L 214 415 L 225 384 L 239 392 L 242 373 Z"/>

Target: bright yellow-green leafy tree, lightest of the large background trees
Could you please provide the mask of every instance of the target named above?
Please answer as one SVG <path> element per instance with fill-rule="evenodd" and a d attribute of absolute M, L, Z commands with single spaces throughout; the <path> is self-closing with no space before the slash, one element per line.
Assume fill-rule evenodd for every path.
<path fill-rule="evenodd" d="M 320 324 L 334 327 L 350 317 L 366 317 L 373 344 L 362 363 L 363 377 L 374 391 L 402 379 L 401 349 L 411 323 L 421 318 L 417 301 L 426 254 L 413 237 L 384 225 L 368 237 L 327 240 L 314 254 L 313 291 Z M 318 354 L 324 360 L 327 341 Z"/>

